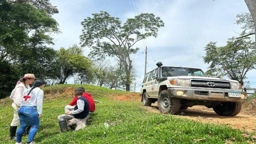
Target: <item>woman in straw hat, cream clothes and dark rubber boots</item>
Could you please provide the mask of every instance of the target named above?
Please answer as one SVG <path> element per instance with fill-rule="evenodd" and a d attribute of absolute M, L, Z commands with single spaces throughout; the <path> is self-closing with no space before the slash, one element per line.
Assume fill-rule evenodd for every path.
<path fill-rule="evenodd" d="M 18 81 L 10 98 L 13 100 L 12 108 L 13 108 L 13 119 L 10 126 L 10 138 L 16 140 L 16 130 L 17 126 L 20 124 L 18 109 L 20 108 L 20 103 L 22 99 L 23 91 L 30 88 L 30 84 L 32 84 L 35 80 L 34 74 L 25 74 L 23 78 Z"/>

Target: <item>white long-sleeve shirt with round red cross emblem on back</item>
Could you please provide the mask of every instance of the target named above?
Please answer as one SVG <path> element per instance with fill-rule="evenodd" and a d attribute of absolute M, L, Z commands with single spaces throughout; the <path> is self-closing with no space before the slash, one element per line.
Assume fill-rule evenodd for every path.
<path fill-rule="evenodd" d="M 36 106 L 38 114 L 42 114 L 44 91 L 37 87 L 28 95 L 30 89 L 24 90 L 20 106 Z"/>

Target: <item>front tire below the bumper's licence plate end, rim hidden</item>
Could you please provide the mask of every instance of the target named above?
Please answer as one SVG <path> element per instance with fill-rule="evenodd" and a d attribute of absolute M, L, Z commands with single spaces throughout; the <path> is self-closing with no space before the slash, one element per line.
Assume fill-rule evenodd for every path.
<path fill-rule="evenodd" d="M 213 110 L 221 116 L 236 116 L 241 110 L 241 102 L 225 102 L 217 105 Z"/>

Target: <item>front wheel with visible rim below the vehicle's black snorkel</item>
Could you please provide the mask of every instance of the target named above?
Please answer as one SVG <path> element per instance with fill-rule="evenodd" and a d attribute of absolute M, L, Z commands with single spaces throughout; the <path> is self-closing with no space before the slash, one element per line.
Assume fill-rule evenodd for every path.
<path fill-rule="evenodd" d="M 180 109 L 180 99 L 169 97 L 167 90 L 161 91 L 157 104 L 161 113 L 175 114 Z"/>

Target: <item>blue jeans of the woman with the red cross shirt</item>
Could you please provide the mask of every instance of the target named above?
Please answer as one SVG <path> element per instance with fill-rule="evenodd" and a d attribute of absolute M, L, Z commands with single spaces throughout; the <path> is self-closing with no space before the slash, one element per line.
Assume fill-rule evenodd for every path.
<path fill-rule="evenodd" d="M 37 129 L 39 128 L 39 115 L 38 115 L 38 112 L 36 111 L 36 107 L 22 106 L 18 111 L 18 115 L 20 118 L 20 127 L 17 130 L 16 142 L 18 143 L 21 142 L 21 138 L 28 124 L 31 125 L 31 129 L 28 134 L 27 142 L 33 141 L 36 135 Z"/>

